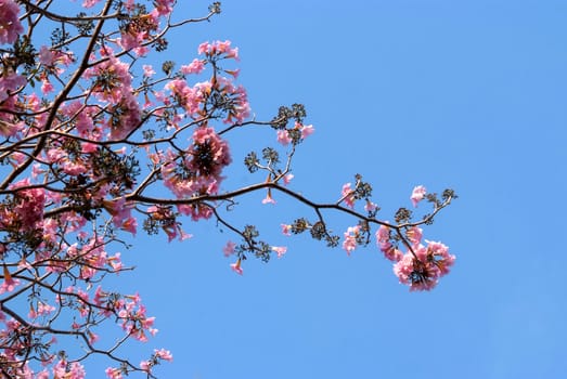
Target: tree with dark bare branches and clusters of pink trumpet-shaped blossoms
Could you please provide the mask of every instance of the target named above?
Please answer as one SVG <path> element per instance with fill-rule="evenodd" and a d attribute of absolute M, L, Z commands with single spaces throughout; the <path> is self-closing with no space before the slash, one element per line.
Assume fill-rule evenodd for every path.
<path fill-rule="evenodd" d="M 410 290 L 431 289 L 453 264 L 447 246 L 422 241 L 420 227 L 451 202 L 450 190 L 437 196 L 416 186 L 413 206 L 425 199 L 430 211 L 415 219 L 400 208 L 394 222 L 377 218 L 372 186 L 359 174 L 332 202 L 292 190 L 293 157 L 314 129 L 300 104 L 280 107 L 268 121 L 250 118 L 230 41 L 204 42 L 180 66 L 144 64 L 167 49 L 169 30 L 220 13 L 216 2 L 202 18 L 175 21 L 173 5 L 85 0 L 88 13 L 69 15 L 72 2 L 0 0 L 2 377 L 83 378 L 82 362 L 98 354 L 107 357 L 109 378 L 153 378 L 154 366 L 172 358 L 167 350 L 141 363 L 119 355 L 121 344 L 146 341 L 155 329 L 138 295 L 105 289 L 105 277 L 127 270 L 113 249 L 124 233 L 140 230 L 185 239 L 182 222 L 212 218 L 239 240 L 224 253 L 242 274 L 247 258 L 286 251 L 261 240 L 253 224 L 230 222 L 235 199 L 252 192 L 266 194 L 265 204 L 279 193 L 310 210 L 282 224 L 285 235 L 308 233 L 349 254 L 375 240 Z M 223 169 L 235 165 L 230 132 L 248 126 L 273 129 L 266 144 L 279 147 L 239 157 L 260 179 L 225 188 Z M 352 220 L 343 236 L 325 221 L 332 211 Z M 112 323 L 118 337 L 99 338 Z"/>

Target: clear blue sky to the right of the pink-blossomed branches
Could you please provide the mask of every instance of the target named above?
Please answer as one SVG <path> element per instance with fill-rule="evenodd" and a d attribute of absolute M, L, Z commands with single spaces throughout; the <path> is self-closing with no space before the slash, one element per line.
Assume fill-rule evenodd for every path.
<path fill-rule="evenodd" d="M 178 18 L 208 4 L 179 2 Z M 317 132 L 297 153 L 293 188 L 314 199 L 336 200 L 360 172 L 391 219 L 416 184 L 454 188 L 460 198 L 424 236 L 458 260 L 437 289 L 410 293 L 374 246 L 349 258 L 286 239 L 279 224 L 311 213 L 257 194 L 233 220 L 287 245 L 283 259 L 248 260 L 235 275 L 221 251 L 230 235 L 207 223 L 186 223 L 189 241 L 139 236 L 123 253 L 138 265 L 123 285 L 160 329 L 127 353 L 171 350 L 160 378 L 566 378 L 567 3 L 229 0 L 222 10 L 171 38 L 163 58 L 191 62 L 202 41 L 230 39 L 258 119 L 305 103 Z M 233 138 L 235 165 L 267 145 L 261 130 Z M 241 172 L 227 185 L 263 179 Z M 337 232 L 349 225 L 332 219 Z"/>

